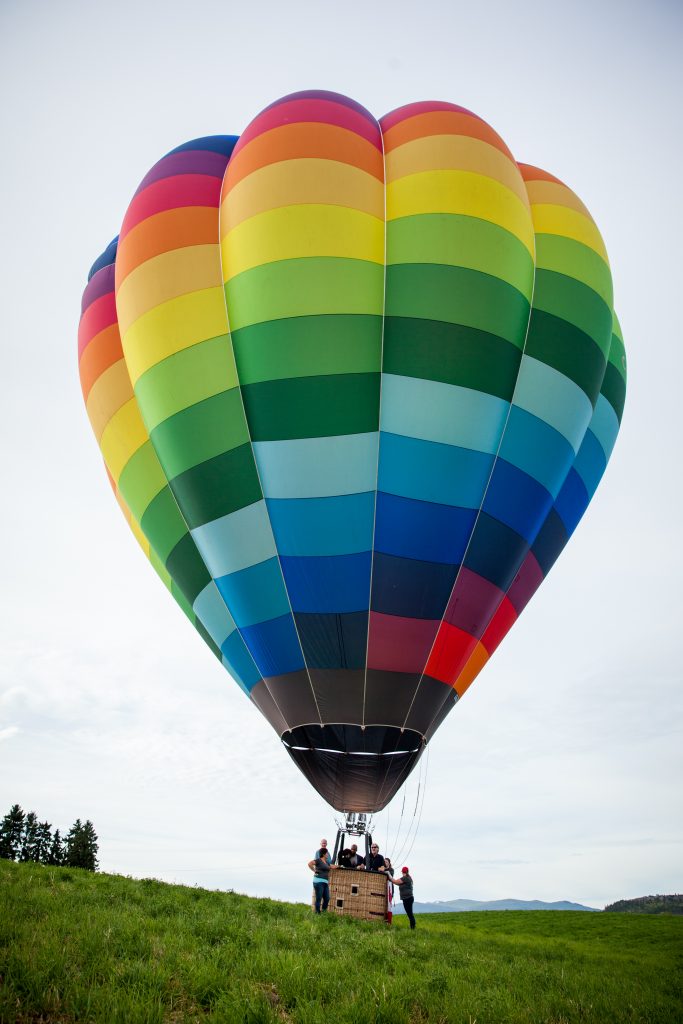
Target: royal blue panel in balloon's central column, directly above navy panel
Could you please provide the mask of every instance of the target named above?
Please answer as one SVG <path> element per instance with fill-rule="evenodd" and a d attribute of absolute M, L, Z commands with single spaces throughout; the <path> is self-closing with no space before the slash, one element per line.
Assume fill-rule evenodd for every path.
<path fill-rule="evenodd" d="M 283 557 L 292 608 L 298 611 L 361 611 L 370 603 L 372 552 Z"/>

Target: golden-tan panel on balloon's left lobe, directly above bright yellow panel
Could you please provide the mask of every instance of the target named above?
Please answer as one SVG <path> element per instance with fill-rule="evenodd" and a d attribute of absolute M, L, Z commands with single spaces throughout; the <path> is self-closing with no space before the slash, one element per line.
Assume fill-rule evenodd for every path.
<path fill-rule="evenodd" d="M 221 285 L 216 245 L 184 246 L 155 256 L 132 270 L 117 292 L 121 333 L 125 334 L 139 316 L 169 299 Z"/>

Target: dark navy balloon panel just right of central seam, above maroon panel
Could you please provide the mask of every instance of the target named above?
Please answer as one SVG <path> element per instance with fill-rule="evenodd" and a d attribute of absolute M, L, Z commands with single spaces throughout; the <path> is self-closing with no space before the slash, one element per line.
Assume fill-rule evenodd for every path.
<path fill-rule="evenodd" d="M 458 567 L 375 552 L 373 611 L 407 618 L 440 618 Z"/>

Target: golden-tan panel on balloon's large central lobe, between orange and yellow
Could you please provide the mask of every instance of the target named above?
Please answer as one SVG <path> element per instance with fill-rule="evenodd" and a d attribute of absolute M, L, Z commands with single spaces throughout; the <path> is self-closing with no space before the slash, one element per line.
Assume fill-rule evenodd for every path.
<path fill-rule="evenodd" d="M 287 160 L 243 178 L 220 208 L 221 239 L 249 217 L 284 206 L 341 206 L 384 217 L 384 187 L 372 174 L 334 160 Z"/>

